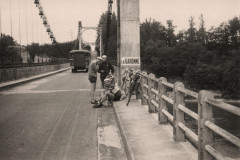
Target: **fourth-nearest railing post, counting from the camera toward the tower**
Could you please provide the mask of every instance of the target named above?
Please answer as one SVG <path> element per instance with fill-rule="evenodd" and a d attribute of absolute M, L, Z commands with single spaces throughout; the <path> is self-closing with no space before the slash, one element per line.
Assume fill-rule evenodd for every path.
<path fill-rule="evenodd" d="M 151 100 L 154 99 L 154 95 L 151 91 L 151 89 L 154 88 L 154 80 L 153 79 L 155 79 L 155 75 L 149 74 L 149 76 L 148 76 L 148 112 L 149 113 L 156 112 L 156 107 L 151 102 Z"/>

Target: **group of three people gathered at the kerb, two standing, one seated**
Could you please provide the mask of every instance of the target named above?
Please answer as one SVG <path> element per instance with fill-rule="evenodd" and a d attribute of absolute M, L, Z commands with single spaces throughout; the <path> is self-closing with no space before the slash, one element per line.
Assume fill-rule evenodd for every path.
<path fill-rule="evenodd" d="M 100 73 L 103 95 L 99 100 L 95 100 L 94 93 L 96 90 L 97 73 Z M 116 79 L 113 76 L 114 68 L 107 62 L 107 56 L 97 57 L 93 60 L 88 68 L 88 79 L 91 83 L 91 104 L 94 108 L 99 108 L 106 100 L 119 101 L 121 98 L 121 91 L 116 84 Z"/>

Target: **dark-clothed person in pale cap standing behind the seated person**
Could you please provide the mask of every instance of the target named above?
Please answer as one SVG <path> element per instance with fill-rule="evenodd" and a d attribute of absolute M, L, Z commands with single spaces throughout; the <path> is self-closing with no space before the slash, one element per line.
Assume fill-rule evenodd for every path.
<path fill-rule="evenodd" d="M 102 88 L 104 88 L 104 79 L 107 77 L 107 75 L 110 73 L 114 73 L 113 66 L 107 62 L 107 56 L 102 56 L 102 63 L 99 65 L 99 73 L 100 73 L 100 79 L 102 82 Z"/>

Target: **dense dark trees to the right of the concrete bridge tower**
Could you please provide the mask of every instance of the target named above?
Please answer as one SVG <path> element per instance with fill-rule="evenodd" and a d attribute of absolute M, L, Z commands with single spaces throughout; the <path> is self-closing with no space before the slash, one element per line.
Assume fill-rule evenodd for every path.
<path fill-rule="evenodd" d="M 205 28 L 203 15 L 195 27 L 174 33 L 172 20 L 167 27 L 154 19 L 140 27 L 142 69 L 158 77 L 181 77 L 194 90 L 220 91 L 225 98 L 240 98 L 240 18 L 218 27 Z"/>

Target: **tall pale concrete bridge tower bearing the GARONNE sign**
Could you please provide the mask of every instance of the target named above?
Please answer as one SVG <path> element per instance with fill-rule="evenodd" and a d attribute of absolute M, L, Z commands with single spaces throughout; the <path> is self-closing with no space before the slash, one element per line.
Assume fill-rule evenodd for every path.
<path fill-rule="evenodd" d="M 117 0 L 118 77 L 126 68 L 140 69 L 139 0 Z"/>

